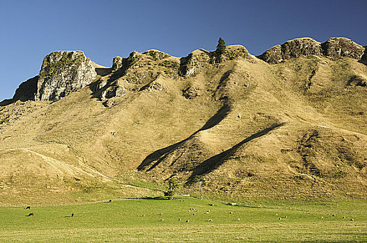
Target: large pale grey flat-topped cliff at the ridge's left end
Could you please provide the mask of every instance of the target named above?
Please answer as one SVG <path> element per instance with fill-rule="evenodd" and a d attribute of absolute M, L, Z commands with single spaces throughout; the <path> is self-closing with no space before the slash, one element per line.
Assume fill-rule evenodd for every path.
<path fill-rule="evenodd" d="M 93 62 L 83 51 L 55 51 L 43 60 L 35 100 L 56 101 L 89 85 L 96 77 Z"/>

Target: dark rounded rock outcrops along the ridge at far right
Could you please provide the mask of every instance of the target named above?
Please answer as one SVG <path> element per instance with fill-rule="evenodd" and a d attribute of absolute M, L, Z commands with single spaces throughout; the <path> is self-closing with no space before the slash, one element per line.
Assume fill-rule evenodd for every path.
<path fill-rule="evenodd" d="M 348 38 L 330 38 L 322 44 L 311 38 L 300 38 L 288 40 L 282 45 L 278 44 L 268 49 L 258 58 L 270 64 L 277 64 L 290 58 L 311 55 L 324 55 L 331 58 L 348 57 L 361 60 L 362 56 L 364 56 L 364 51 L 364 47 Z"/>

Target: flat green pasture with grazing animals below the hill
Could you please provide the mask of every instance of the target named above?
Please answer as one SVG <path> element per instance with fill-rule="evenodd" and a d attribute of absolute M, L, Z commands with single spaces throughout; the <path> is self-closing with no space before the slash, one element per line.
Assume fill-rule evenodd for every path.
<path fill-rule="evenodd" d="M 0 242 L 367 242 L 367 215 L 192 198 L 0 208 Z"/>

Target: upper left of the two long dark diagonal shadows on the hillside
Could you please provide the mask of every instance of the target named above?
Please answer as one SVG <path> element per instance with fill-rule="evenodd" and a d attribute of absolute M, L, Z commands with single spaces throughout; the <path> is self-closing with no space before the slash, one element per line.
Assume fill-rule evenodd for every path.
<path fill-rule="evenodd" d="M 208 121 L 206 121 L 206 124 L 204 124 L 204 126 L 202 126 L 202 128 L 200 128 L 199 130 L 197 130 L 195 133 L 193 133 L 192 135 L 190 135 L 190 137 L 186 138 L 185 140 L 182 140 L 180 142 L 177 142 L 175 144 L 172 144 L 170 146 L 166 146 L 163 149 L 159 149 L 157 151 L 155 151 L 154 153 L 149 154 L 149 156 L 147 156 L 144 160 L 142 160 L 141 164 L 138 166 L 138 170 L 142 170 L 142 169 L 146 169 L 152 162 L 156 161 L 154 163 L 154 165 L 152 165 L 149 169 L 153 169 L 154 167 L 156 167 L 162 160 L 164 160 L 164 158 L 166 156 L 168 156 L 168 153 L 174 149 L 177 149 L 178 146 L 180 146 L 181 144 L 183 144 L 184 142 L 186 142 L 187 140 L 190 140 L 190 138 L 192 138 L 195 134 L 199 133 L 199 131 L 204 131 L 206 129 L 212 128 L 213 126 L 217 125 L 220 123 L 220 121 L 222 121 L 223 119 L 225 119 L 225 117 L 227 116 L 228 112 L 230 110 L 230 106 L 225 104 L 224 106 L 222 106 L 222 108 L 220 108 L 215 115 L 213 115 L 213 117 L 211 117 Z M 163 156 L 163 157 L 162 157 Z"/>

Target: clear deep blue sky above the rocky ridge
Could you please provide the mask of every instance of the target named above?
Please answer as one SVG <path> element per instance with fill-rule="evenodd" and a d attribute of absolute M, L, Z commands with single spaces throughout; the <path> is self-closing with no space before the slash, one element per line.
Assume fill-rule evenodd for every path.
<path fill-rule="evenodd" d="M 254 55 L 296 37 L 341 36 L 367 45 L 366 10 L 366 0 L 0 0 L 0 101 L 56 50 L 82 50 L 111 66 L 131 51 L 213 50 L 218 37 Z"/>

